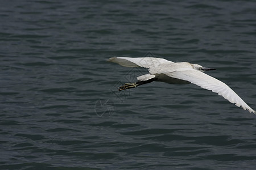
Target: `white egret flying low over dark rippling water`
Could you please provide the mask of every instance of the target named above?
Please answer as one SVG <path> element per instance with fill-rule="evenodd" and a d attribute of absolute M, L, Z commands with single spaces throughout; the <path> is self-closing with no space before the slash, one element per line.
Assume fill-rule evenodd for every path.
<path fill-rule="evenodd" d="M 192 64 L 189 62 L 172 62 L 163 58 L 155 57 L 112 57 L 109 58 L 110 62 L 118 63 L 125 67 L 145 67 L 148 69 L 149 74 L 138 76 L 138 82 L 125 83 L 125 85 L 119 87 L 119 90 L 126 90 L 141 86 L 142 84 L 151 83 L 153 81 L 166 82 L 170 84 L 189 84 L 193 83 L 201 88 L 213 91 L 218 95 L 223 96 L 230 103 L 236 104 L 238 107 L 242 107 L 244 110 L 250 113 L 256 112 L 249 107 L 225 83 L 209 76 L 204 71 L 215 70 L 207 67 L 200 66 L 198 64 Z"/>

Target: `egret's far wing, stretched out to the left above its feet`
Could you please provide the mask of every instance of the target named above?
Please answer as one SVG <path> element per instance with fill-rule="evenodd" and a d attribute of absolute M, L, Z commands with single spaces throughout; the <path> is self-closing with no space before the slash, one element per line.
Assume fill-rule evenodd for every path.
<path fill-rule="evenodd" d="M 168 61 L 167 59 L 155 57 L 112 57 L 109 58 L 108 61 L 118 63 L 124 67 L 145 67 L 147 69 L 157 67 L 162 63 L 174 63 L 172 61 Z"/>

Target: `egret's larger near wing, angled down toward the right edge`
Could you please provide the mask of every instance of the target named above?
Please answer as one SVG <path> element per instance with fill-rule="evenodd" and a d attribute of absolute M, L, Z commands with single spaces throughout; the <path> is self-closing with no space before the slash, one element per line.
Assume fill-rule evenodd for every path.
<path fill-rule="evenodd" d="M 247 105 L 245 101 L 243 101 L 241 97 L 239 97 L 228 85 L 216 78 L 213 78 L 212 76 L 204 74 L 201 71 L 186 68 L 177 69 L 170 73 L 164 74 L 172 78 L 187 80 L 193 84 L 196 84 L 197 86 L 200 86 L 201 88 L 213 91 L 218 95 L 223 96 L 226 100 L 230 101 L 230 103 L 234 103 L 238 107 L 242 107 L 243 109 L 256 114 L 256 112 L 251 109 L 249 105 Z"/>

